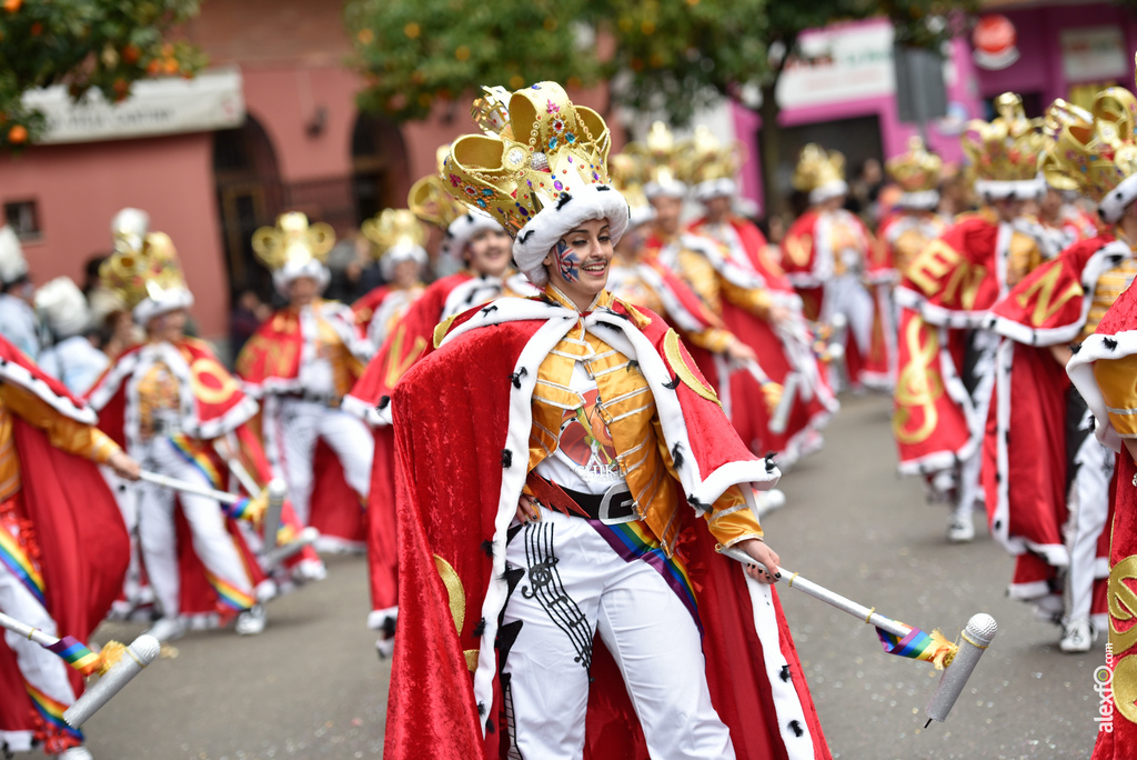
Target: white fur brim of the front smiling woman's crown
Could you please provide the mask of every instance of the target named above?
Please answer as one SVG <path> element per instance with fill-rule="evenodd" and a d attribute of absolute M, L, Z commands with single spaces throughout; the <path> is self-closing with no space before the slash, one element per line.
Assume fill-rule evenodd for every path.
<path fill-rule="evenodd" d="M 589 220 L 607 220 L 612 242 L 616 243 L 628 229 L 628 201 L 615 188 L 589 184 L 573 195 L 565 193 L 554 206 L 546 206 L 521 228 L 513 241 L 513 258 L 534 284 L 548 281 L 541 264 L 566 232 Z"/>

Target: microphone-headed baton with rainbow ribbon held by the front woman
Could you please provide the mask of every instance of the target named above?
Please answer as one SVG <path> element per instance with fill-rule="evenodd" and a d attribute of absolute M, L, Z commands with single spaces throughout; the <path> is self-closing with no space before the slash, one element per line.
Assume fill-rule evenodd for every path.
<path fill-rule="evenodd" d="M 755 561 L 749 554 L 737 548 L 723 548 L 722 554 L 742 564 L 761 567 L 761 562 Z M 785 568 L 775 568 L 774 572 L 781 573 L 783 580 L 790 588 L 796 588 L 810 596 L 821 600 L 843 612 L 847 612 L 857 620 L 875 626 L 877 635 L 889 654 L 912 658 L 914 660 L 926 660 L 943 670 L 944 675 L 939 679 L 939 686 L 931 695 L 924 714 L 928 722 L 924 728 L 931 725 L 932 720 L 944 722 L 947 713 L 952 711 L 955 701 L 960 699 L 963 687 L 971 677 L 979 658 L 990 645 L 998 631 L 995 618 L 986 612 L 980 612 L 971 617 L 966 627 L 960 633 L 958 643 L 947 641 L 938 630 L 926 634 L 919 628 L 906 626 L 903 622 L 886 618 L 877 612 L 877 608 L 866 608 L 857 604 L 850 598 L 829 590 L 824 586 L 803 578 L 796 572 L 790 572 Z M 773 573 L 771 573 L 773 575 Z"/>

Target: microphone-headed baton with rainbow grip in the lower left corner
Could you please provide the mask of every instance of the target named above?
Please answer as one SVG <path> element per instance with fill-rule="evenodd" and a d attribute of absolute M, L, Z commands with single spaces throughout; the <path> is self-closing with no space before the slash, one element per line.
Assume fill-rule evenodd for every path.
<path fill-rule="evenodd" d="M 59 655 L 61 660 L 84 676 L 100 674 L 99 680 L 64 712 L 64 720 L 72 728 L 78 728 L 86 722 L 88 718 L 121 692 L 134 676 L 153 662 L 160 650 L 157 638 L 142 634 L 128 646 L 123 646 L 118 642 L 107 642 L 102 651 L 96 654 L 72 636 L 56 638 L 2 612 L 0 612 L 0 628 L 19 634 Z"/>

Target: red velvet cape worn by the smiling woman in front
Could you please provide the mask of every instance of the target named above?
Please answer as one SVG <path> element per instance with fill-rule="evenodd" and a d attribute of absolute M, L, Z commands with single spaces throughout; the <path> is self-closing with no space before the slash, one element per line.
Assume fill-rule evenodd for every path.
<path fill-rule="evenodd" d="M 478 315 L 489 320 L 487 312 L 504 300 L 512 299 L 472 309 L 456 324 Z M 622 305 L 615 311 L 628 316 Z M 662 355 L 665 324 L 645 314 L 650 323 L 642 332 Z M 524 469 L 528 461 L 528 447 L 511 449 L 512 393 L 523 379 L 515 367 L 546 324 L 501 321 L 456 336 L 416 364 L 395 390 L 400 619 L 384 749 L 384 757 L 393 760 L 498 758 L 508 750 L 499 727 L 499 684 L 492 704 L 476 703 L 467 655 L 478 656 L 487 625 L 479 619 L 480 610 L 493 583 L 501 583 L 492 576 L 493 555 L 504 551 L 504 537 L 497 532 L 503 473 Z M 715 404 L 687 380 L 671 380 L 690 435 L 689 455 L 699 472 L 753 461 Z M 830 757 L 777 594 L 769 598 L 780 651 L 767 654 L 785 658 L 782 672 L 789 680 L 771 678 L 763 666 L 740 568 L 714 553 L 715 542 L 705 526 L 695 524 L 699 519 L 694 510 L 680 509 L 678 514 L 686 522 L 682 553 L 702 589 L 698 604 L 712 699 L 730 727 L 738 757 L 786 757 L 786 742 L 804 743 L 796 747 L 803 757 Z M 626 691 L 601 650 L 597 641 L 586 758 L 646 757 Z M 800 703 L 802 720 L 781 726 L 773 694 L 789 686 Z"/>

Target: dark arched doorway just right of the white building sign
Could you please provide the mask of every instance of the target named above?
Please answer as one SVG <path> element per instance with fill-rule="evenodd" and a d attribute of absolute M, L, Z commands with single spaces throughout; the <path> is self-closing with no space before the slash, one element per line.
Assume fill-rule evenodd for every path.
<path fill-rule="evenodd" d="M 252 253 L 252 233 L 274 223 L 284 193 L 272 141 L 252 116 L 243 126 L 214 133 L 214 181 L 230 295 L 251 288 L 267 301 L 272 276 Z"/>

